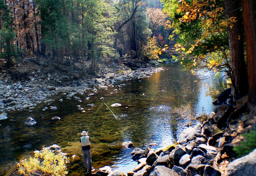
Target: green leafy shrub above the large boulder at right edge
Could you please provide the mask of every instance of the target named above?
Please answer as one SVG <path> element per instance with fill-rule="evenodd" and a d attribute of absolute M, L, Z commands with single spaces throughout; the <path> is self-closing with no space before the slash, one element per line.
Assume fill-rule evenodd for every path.
<path fill-rule="evenodd" d="M 238 154 L 238 157 L 247 155 L 256 148 L 256 131 L 250 130 L 250 133 L 242 134 L 244 141 L 240 142 L 238 146 L 234 147 L 234 151 Z"/>

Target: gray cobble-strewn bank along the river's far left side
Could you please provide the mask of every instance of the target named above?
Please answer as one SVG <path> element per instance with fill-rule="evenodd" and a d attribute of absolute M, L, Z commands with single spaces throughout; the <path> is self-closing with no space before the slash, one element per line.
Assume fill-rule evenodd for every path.
<path fill-rule="evenodd" d="M 83 78 L 49 73 L 41 66 L 41 69 L 33 70 L 26 79 L 21 78 L 20 81 L 13 79 L 13 74 L 4 70 L 0 73 L 0 120 L 6 118 L 7 111 L 33 111 L 39 103 L 50 101 L 59 92 L 75 91 L 79 94 L 92 90 L 92 87 L 106 89 L 123 80 L 149 77 L 161 71 L 161 68 L 152 67 L 158 64 L 150 62 L 131 70 L 127 65 L 113 63 L 101 66 L 97 75 L 85 75 Z"/>

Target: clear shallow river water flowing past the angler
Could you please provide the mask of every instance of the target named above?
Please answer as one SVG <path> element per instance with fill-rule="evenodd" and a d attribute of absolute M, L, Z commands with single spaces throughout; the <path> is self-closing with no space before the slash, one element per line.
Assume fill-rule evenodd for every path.
<path fill-rule="evenodd" d="M 75 95 L 82 98 L 78 103 L 72 98 L 65 99 L 61 93 L 52 97 L 50 105 L 41 103 L 33 112 L 15 111 L 8 113 L 8 119 L 0 124 L 0 175 L 6 173 L 21 157 L 27 157 L 42 146 L 57 144 L 66 153 L 75 153 L 81 156 L 79 138 L 81 131 L 87 130 L 90 123 L 89 135 L 91 137 L 91 153 L 93 167 L 99 168 L 110 165 L 115 169 L 131 171 L 137 162 L 131 159 L 132 149 L 123 149 L 122 142 L 132 141 L 135 147 L 145 148 L 147 144 L 155 142 L 156 149 L 170 145 L 178 137 L 187 119 L 173 113 L 174 107 L 190 102 L 197 114 L 202 107 L 211 112 L 214 106 L 211 97 L 206 97 L 208 88 L 205 84 L 213 84 L 215 88 L 223 89 L 219 78 L 209 78 L 210 73 L 202 73 L 194 76 L 181 71 L 178 63 L 159 65 L 164 70 L 154 73 L 150 78 L 141 78 L 123 81 L 126 86 L 120 87 L 117 93 L 113 92 L 117 87 L 109 87 L 108 90 L 98 89 L 97 93 L 85 100 L 88 94 Z M 141 82 L 140 82 L 141 81 Z M 115 118 L 107 110 L 100 97 L 117 115 Z M 63 102 L 58 100 L 63 98 Z M 111 107 L 113 103 L 122 106 Z M 86 107 L 94 104 L 94 107 Z M 86 112 L 78 110 L 77 105 L 85 108 Z M 44 107 L 56 106 L 58 109 L 42 111 Z M 51 121 L 54 116 L 61 117 L 58 122 Z M 24 122 L 27 117 L 37 121 L 34 127 L 27 127 Z M 10 121 L 13 119 L 14 121 Z M 85 168 L 81 156 L 78 163 L 80 167 L 74 172 L 84 173 Z M 69 166 L 69 169 L 72 165 Z"/>

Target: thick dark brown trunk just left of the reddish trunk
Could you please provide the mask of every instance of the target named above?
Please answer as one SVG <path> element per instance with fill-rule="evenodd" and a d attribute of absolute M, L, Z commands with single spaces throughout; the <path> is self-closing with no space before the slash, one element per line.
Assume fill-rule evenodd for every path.
<path fill-rule="evenodd" d="M 235 17 L 229 27 L 229 50 L 231 57 L 231 81 L 233 85 L 233 99 L 237 100 L 248 93 L 248 78 L 243 54 L 242 23 L 239 14 L 239 3 L 225 0 L 227 18 Z"/>

